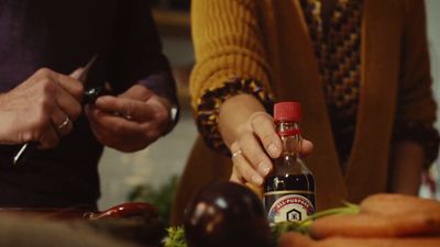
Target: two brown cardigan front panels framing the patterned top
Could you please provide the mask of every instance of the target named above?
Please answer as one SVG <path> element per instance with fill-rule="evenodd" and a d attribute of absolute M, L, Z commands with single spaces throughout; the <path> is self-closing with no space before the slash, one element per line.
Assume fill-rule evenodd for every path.
<path fill-rule="evenodd" d="M 395 1 L 363 2 L 359 110 L 345 173 L 300 1 L 257 1 L 256 9 L 275 99 L 301 102 L 302 133 L 316 144 L 307 164 L 316 175 L 318 207 L 385 191 L 402 59 L 402 5 Z M 370 184 L 371 178 L 374 184 Z"/>

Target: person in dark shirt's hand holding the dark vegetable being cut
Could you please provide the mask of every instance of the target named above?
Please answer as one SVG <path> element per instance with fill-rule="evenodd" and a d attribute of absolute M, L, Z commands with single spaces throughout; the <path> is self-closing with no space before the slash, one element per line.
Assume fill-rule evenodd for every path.
<path fill-rule="evenodd" d="M 135 85 L 118 97 L 103 96 L 86 109 L 91 130 L 103 145 L 136 151 L 156 141 L 170 123 L 169 103 Z"/>

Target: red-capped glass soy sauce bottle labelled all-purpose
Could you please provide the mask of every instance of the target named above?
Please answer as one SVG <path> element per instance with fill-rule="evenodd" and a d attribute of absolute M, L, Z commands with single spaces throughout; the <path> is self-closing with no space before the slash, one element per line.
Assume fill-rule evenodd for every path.
<path fill-rule="evenodd" d="M 271 224 L 304 221 L 316 212 L 315 178 L 300 156 L 301 108 L 298 102 L 274 105 L 276 131 L 283 153 L 264 180 L 264 206 Z"/>

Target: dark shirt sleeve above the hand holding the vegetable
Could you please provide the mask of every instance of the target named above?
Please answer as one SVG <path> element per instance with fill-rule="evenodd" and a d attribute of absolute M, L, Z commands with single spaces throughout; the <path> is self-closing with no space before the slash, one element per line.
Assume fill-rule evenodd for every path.
<path fill-rule="evenodd" d="M 147 0 L 117 2 L 108 77 L 112 89 L 123 92 L 134 83 L 177 104 L 176 83 Z"/>

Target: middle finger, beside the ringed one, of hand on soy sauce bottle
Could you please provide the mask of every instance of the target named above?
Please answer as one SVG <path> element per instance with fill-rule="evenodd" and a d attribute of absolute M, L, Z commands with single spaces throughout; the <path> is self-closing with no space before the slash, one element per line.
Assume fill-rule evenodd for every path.
<path fill-rule="evenodd" d="M 243 155 L 250 161 L 262 177 L 268 175 L 272 170 L 272 161 L 263 150 L 260 142 L 255 138 L 252 132 L 245 132 L 239 139 L 239 145 L 242 147 Z"/>

